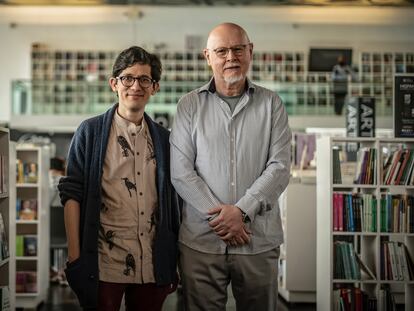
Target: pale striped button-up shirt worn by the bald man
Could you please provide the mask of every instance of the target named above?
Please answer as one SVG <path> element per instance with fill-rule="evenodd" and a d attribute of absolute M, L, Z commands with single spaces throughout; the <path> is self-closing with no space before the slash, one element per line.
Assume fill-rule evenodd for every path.
<path fill-rule="evenodd" d="M 289 182 L 291 131 L 280 97 L 246 82 L 232 113 L 214 79 L 178 103 L 171 143 L 171 178 L 183 198 L 179 241 L 205 253 L 227 245 L 208 225 L 207 211 L 238 206 L 249 216 L 248 244 L 230 254 L 256 254 L 283 242 L 277 199 Z"/>

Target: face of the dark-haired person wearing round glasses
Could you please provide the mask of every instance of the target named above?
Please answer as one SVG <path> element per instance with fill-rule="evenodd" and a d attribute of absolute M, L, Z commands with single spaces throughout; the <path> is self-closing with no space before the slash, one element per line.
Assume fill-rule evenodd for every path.
<path fill-rule="evenodd" d="M 151 66 L 150 65 L 141 65 L 141 64 L 134 64 L 131 67 L 124 69 L 119 77 L 142 77 L 146 76 L 150 79 L 151 77 Z M 159 84 L 158 82 L 152 83 L 148 88 L 144 88 L 140 85 L 140 83 L 135 80 L 132 86 L 124 86 L 121 80 L 115 78 L 111 78 L 109 80 L 109 84 L 114 92 L 118 94 L 119 100 L 119 109 L 125 112 L 140 112 L 143 111 L 145 105 L 148 103 L 149 98 L 154 95 L 158 89 Z"/>

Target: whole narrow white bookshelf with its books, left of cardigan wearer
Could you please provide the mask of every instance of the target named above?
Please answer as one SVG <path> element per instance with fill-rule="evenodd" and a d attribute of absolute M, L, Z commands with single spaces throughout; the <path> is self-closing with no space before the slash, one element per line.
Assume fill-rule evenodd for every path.
<path fill-rule="evenodd" d="M 16 147 L 14 236 L 17 308 L 36 308 L 49 287 L 49 148 Z"/>

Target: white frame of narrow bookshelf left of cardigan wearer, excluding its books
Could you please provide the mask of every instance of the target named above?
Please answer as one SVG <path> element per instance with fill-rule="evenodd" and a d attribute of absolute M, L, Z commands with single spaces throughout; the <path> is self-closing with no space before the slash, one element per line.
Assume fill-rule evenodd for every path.
<path fill-rule="evenodd" d="M 16 308 L 37 308 L 46 301 L 49 288 L 49 231 L 50 231 L 50 211 L 49 211 L 49 179 L 48 172 L 50 166 L 50 151 L 48 147 L 38 147 L 33 145 L 17 145 L 16 159 L 23 163 L 36 163 L 38 180 L 35 183 L 16 183 L 16 193 L 14 200 L 17 199 L 37 199 L 37 219 L 21 220 L 17 219 L 16 201 L 14 203 L 13 222 L 15 235 L 12 237 L 13 257 L 15 264 L 15 278 L 17 272 L 26 271 L 36 274 L 36 285 L 33 290 L 17 288 L 21 286 L 15 284 L 14 291 Z M 16 161 L 15 161 L 16 163 Z M 14 166 L 16 171 L 16 164 Z M 19 181 L 17 179 L 17 181 Z M 16 256 L 16 235 L 30 235 L 37 239 L 36 256 Z M 15 279 L 16 283 L 16 279 Z M 32 292 L 33 290 L 33 292 Z M 19 291 L 19 292 L 16 292 Z M 30 292 L 29 292 L 30 291 Z"/>

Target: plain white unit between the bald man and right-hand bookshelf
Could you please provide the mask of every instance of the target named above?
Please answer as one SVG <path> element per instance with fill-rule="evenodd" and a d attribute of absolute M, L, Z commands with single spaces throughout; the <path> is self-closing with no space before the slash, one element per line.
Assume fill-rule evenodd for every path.
<path fill-rule="evenodd" d="M 279 295 L 292 303 L 316 302 L 316 176 L 306 182 L 291 178 L 279 206 L 284 234 Z"/>

